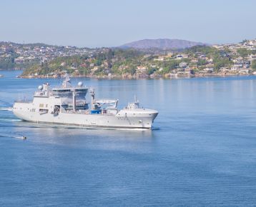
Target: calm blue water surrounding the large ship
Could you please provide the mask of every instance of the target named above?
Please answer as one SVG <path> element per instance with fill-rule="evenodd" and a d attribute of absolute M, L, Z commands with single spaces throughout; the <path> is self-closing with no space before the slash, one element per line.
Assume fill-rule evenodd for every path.
<path fill-rule="evenodd" d="M 1 107 L 60 84 L 19 73 L 1 71 Z M 0 111 L 0 206 L 256 206 L 255 76 L 82 80 L 121 107 L 136 94 L 159 111 L 154 130 L 52 126 Z"/>

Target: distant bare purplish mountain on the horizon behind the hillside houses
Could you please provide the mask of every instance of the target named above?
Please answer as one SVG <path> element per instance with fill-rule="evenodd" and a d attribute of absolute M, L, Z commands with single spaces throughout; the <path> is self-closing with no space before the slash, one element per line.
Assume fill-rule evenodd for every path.
<path fill-rule="evenodd" d="M 186 49 L 197 45 L 208 45 L 202 42 L 187 41 L 182 39 L 143 39 L 132 41 L 130 43 L 119 46 L 120 48 L 134 49 Z"/>

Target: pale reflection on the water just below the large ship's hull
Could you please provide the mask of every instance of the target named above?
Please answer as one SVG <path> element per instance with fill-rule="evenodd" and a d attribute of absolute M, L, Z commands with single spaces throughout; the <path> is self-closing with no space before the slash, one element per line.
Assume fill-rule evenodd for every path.
<path fill-rule="evenodd" d="M 27 136 L 28 141 L 66 146 L 68 148 L 97 148 L 104 150 L 133 151 L 133 148 L 150 146 L 154 130 L 89 129 L 57 126 L 44 123 L 15 123 L 14 133 Z M 10 129 L 9 129 L 10 130 Z"/>

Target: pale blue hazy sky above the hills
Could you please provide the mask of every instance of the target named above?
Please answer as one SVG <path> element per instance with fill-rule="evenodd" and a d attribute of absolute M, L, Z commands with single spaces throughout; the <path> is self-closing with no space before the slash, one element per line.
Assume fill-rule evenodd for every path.
<path fill-rule="evenodd" d="M 0 41 L 96 47 L 256 38 L 255 0 L 1 0 L 0 8 Z"/>

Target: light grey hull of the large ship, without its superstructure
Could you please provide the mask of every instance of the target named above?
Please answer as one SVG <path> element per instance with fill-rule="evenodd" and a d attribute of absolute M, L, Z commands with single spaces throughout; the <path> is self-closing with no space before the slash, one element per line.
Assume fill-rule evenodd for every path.
<path fill-rule="evenodd" d="M 87 114 L 87 113 L 40 113 L 33 110 L 32 103 L 15 103 L 14 115 L 24 121 L 37 123 L 57 123 L 85 128 L 152 128 L 157 111 L 146 108 L 133 110 L 122 109 L 117 114 Z"/>

